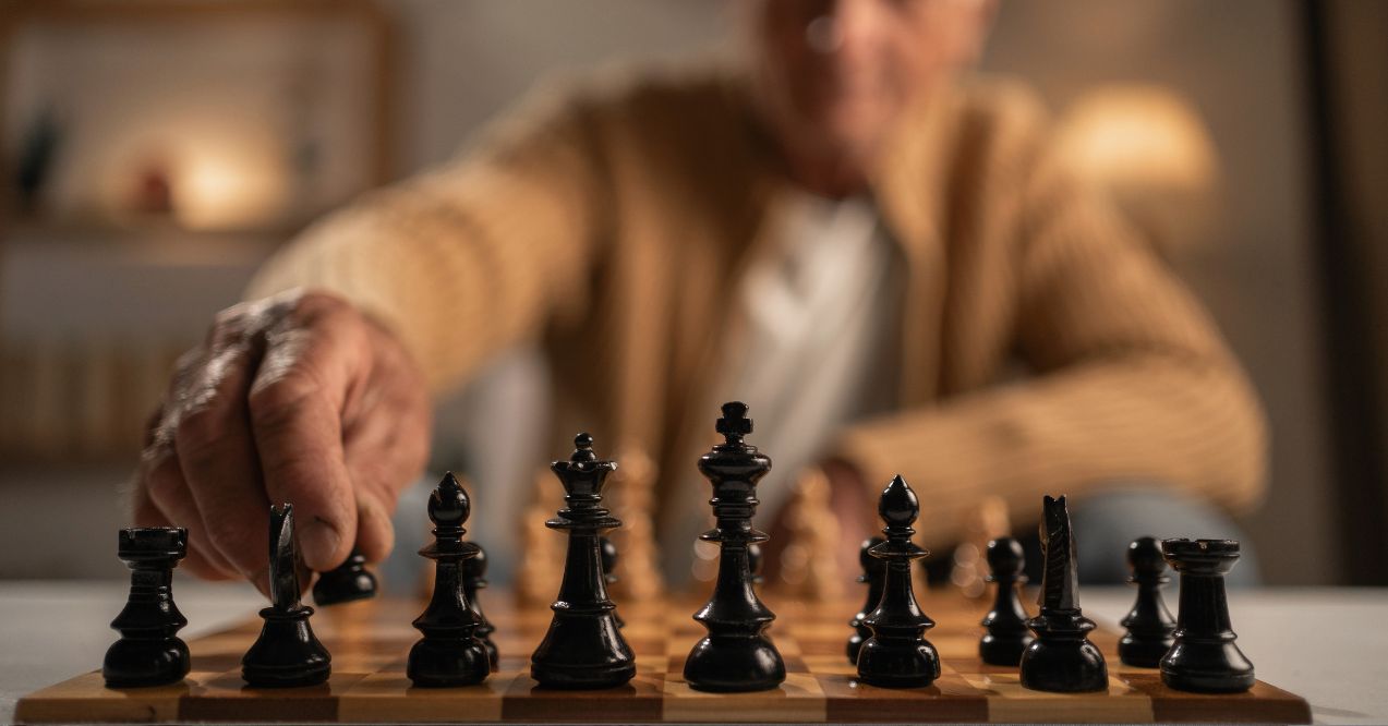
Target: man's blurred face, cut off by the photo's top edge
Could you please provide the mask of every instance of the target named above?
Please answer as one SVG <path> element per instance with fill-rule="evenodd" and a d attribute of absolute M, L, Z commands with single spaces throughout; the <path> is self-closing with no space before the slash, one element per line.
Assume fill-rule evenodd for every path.
<path fill-rule="evenodd" d="M 791 171 L 861 185 L 902 111 L 977 57 L 991 15 L 991 0 L 761 0 L 758 103 Z"/>

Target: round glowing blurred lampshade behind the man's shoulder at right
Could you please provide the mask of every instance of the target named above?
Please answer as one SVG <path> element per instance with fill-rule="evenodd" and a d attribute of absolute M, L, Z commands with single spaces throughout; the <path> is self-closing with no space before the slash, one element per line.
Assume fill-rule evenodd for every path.
<path fill-rule="evenodd" d="M 1217 155 L 1190 103 L 1153 86 L 1108 86 L 1076 101 L 1058 129 L 1063 158 L 1109 187 L 1163 247 L 1198 235 Z"/>

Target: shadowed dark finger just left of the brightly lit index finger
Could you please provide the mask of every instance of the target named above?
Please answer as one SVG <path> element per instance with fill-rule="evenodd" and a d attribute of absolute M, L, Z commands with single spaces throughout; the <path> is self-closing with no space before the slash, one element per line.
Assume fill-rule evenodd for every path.
<path fill-rule="evenodd" d="M 269 557 L 264 536 L 269 500 L 246 411 L 253 365 L 248 346 L 215 351 L 174 436 L 179 468 L 211 546 L 247 579 L 265 569 Z"/>

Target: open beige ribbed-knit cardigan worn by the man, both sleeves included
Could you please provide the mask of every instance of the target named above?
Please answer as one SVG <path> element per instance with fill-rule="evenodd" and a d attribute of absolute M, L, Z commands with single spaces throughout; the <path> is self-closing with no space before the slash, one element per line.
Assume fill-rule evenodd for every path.
<path fill-rule="evenodd" d="M 729 301 L 773 247 L 790 187 L 747 93 L 722 72 L 537 93 L 455 161 L 311 226 L 250 294 L 346 296 L 436 390 L 539 341 L 561 412 L 662 472 L 693 466 L 680 458 L 718 412 L 690 407 L 736 344 Z M 865 497 L 902 473 L 936 544 L 985 493 L 1019 522 L 1042 493 L 1116 480 L 1227 508 L 1259 497 L 1264 422 L 1239 366 L 1102 194 L 1048 154 L 1031 94 L 959 82 L 892 139 L 872 192 L 905 268 L 899 410 L 826 451 L 861 469 Z"/>

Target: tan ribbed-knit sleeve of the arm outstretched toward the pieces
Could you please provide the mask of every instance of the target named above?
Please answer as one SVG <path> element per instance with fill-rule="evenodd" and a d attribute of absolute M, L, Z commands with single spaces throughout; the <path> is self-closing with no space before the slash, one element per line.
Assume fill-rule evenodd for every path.
<path fill-rule="evenodd" d="M 586 303 L 609 208 L 586 112 L 533 99 L 458 160 L 311 226 L 260 271 L 247 298 L 337 293 L 401 337 L 432 389 L 462 383 L 555 311 Z"/>

